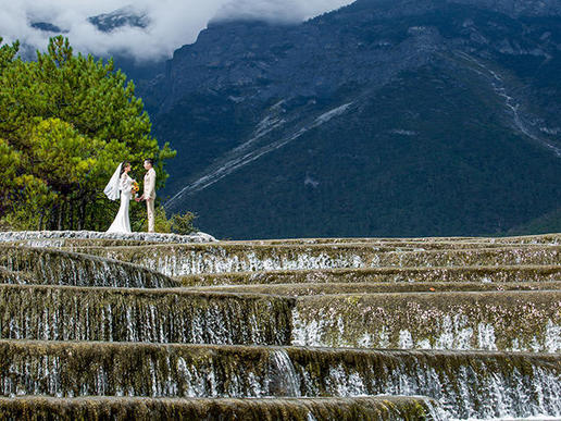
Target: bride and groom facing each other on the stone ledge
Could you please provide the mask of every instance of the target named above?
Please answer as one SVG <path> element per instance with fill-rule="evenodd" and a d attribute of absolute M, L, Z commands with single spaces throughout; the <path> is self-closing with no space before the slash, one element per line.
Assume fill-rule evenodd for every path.
<path fill-rule="evenodd" d="M 146 201 L 146 210 L 148 213 L 148 232 L 154 232 L 154 200 L 155 200 L 155 171 L 153 169 L 154 161 L 151 159 L 145 160 L 145 191 L 142 196 L 135 197 L 138 202 L 140 200 Z M 107 231 L 108 233 L 132 233 L 130 221 L 128 219 L 128 205 L 133 195 L 136 196 L 138 191 L 138 185 L 136 181 L 130 178 L 128 173 L 130 172 L 130 162 L 122 162 L 113 173 L 113 176 L 109 181 L 108 185 L 103 189 L 103 193 L 111 200 L 121 198 L 121 207 L 115 216 L 115 220 Z"/>

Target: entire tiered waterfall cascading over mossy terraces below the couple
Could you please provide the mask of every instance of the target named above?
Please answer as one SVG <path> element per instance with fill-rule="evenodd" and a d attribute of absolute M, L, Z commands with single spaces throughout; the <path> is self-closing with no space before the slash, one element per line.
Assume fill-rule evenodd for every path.
<path fill-rule="evenodd" d="M 531 247 L 522 246 L 532 242 L 526 238 L 513 244 L 501 239 L 494 247 L 487 247 L 493 242 L 481 246 L 475 239 L 465 244 L 458 239 L 450 240 L 449 249 L 445 243 L 432 248 L 429 240 L 419 242 L 417 247 L 409 242 L 391 246 L 394 251 L 384 242 L 370 246 L 367 240 L 362 245 L 324 240 L 313 247 L 306 242 L 294 247 L 266 243 L 138 247 L 134 242 L 140 239 L 130 239 L 117 247 L 96 239 L 91 252 L 129 263 L 3 245 L 0 413 L 8 407 L 11 412 L 5 413 L 21 414 L 22 408 L 53 410 L 62 405 L 65 413 L 84 419 L 107 408 L 113 408 L 112 413 L 123 408 L 136 413 L 132 408 L 140 406 L 154 414 L 187 419 L 209 413 L 216 419 L 228 413 L 230 419 L 307 421 L 352 420 L 352 416 L 436 421 L 559 418 L 561 357 L 539 354 L 561 349 L 559 282 L 551 282 L 561 273 L 556 265 L 559 247 L 550 246 L 559 238 L 537 238 L 539 245 Z M 80 246 L 73 238 L 52 244 Z M 431 268 L 442 262 L 450 267 Z M 464 263 L 485 267 L 461 267 Z M 324 287 L 310 298 L 249 294 L 241 287 L 237 293 L 169 288 L 178 285 L 176 280 L 136 264 L 176 274 L 200 273 L 184 285 L 227 284 L 227 280 L 273 285 L 288 280 Z M 414 268 L 402 268 L 408 264 Z M 372 265 L 385 268 L 337 272 L 342 267 Z M 209 275 L 276 269 L 314 272 Z M 339 294 L 334 287 L 337 280 L 352 286 L 352 292 Z M 547 285 L 525 293 L 515 287 L 462 293 L 452 286 L 465 281 L 478 285 L 485 281 L 488 286 L 497 280 L 525 281 L 527 289 Z M 402 294 L 387 294 L 402 281 L 423 281 L 433 293 L 403 288 Z M 437 290 L 433 281 L 446 289 Z M 366 282 L 384 283 L 379 288 L 384 294 L 375 293 L 376 285 L 372 294 L 364 294 L 360 283 Z M 270 292 L 275 292 L 273 286 Z M 291 342 L 333 348 L 294 347 Z M 337 348 L 341 346 L 348 348 Z M 357 346 L 365 349 L 352 348 Z M 410 349 L 372 349 L 384 347 Z M 10 398 L 18 395 L 54 400 L 22 397 L 20 405 Z"/>

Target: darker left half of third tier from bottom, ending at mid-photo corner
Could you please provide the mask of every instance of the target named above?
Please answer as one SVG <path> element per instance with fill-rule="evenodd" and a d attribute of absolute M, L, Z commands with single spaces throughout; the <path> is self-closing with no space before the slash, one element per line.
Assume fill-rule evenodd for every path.
<path fill-rule="evenodd" d="M 0 285 L 0 338 L 290 345 L 294 306 L 250 294 Z"/>

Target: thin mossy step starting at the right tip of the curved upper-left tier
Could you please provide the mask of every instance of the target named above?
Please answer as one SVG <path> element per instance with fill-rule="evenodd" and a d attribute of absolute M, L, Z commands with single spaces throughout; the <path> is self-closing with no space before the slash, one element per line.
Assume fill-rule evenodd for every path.
<path fill-rule="evenodd" d="M 561 281 L 561 264 L 556 265 L 500 265 L 452 268 L 367 268 L 367 269 L 312 269 L 294 271 L 259 271 L 210 273 L 177 276 L 184 286 L 215 285 L 276 285 L 326 283 L 524 283 Z"/>

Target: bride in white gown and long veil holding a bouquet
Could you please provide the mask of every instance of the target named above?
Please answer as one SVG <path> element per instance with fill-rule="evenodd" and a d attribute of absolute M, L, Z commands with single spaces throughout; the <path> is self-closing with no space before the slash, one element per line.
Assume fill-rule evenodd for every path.
<path fill-rule="evenodd" d="M 103 193 L 111 200 L 121 197 L 121 207 L 119 208 L 115 220 L 107 231 L 108 233 L 130 233 L 130 221 L 128 220 L 128 205 L 133 197 L 133 183 L 135 182 L 128 173 L 130 172 L 130 163 L 122 162 L 113 173 Z M 121 195 L 120 195 L 121 191 Z"/>

